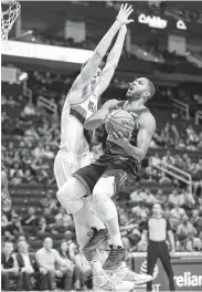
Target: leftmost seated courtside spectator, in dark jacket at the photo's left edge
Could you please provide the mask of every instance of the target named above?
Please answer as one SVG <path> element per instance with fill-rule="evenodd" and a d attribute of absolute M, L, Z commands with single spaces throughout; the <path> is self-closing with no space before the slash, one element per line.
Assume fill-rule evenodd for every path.
<path fill-rule="evenodd" d="M 3 243 L 3 251 L 1 253 L 1 289 L 4 291 L 10 290 L 10 280 L 18 279 L 18 263 L 13 254 L 13 243 L 6 241 Z M 17 290 L 19 289 L 19 281 L 17 283 Z"/>

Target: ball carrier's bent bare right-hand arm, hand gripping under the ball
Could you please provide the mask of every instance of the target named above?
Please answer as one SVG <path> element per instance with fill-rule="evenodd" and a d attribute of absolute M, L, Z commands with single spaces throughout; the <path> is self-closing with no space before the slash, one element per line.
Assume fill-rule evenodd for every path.
<path fill-rule="evenodd" d="M 119 145 L 125 152 L 137 160 L 142 160 L 149 149 L 151 138 L 156 131 L 156 119 L 150 114 L 143 114 L 139 118 L 139 129 L 137 135 L 137 147 L 131 145 L 127 138 L 120 133 L 113 133 L 110 142 Z"/>

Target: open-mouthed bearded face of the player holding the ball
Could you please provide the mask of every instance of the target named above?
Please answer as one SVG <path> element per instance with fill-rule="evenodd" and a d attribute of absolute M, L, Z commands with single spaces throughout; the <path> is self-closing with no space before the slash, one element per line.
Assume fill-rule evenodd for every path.
<path fill-rule="evenodd" d="M 129 84 L 126 97 L 128 100 L 139 100 L 143 93 L 148 92 L 148 81 L 147 79 L 140 77 L 136 79 Z"/>

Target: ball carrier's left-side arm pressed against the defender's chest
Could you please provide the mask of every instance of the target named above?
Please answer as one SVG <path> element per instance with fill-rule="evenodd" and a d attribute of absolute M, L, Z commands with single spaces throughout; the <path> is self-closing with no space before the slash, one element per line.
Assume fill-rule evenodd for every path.
<path fill-rule="evenodd" d="M 110 109 L 119 103 L 117 100 L 107 101 L 96 113 L 94 113 L 84 124 L 84 127 L 89 131 L 96 129 L 98 126 L 105 123 Z"/>

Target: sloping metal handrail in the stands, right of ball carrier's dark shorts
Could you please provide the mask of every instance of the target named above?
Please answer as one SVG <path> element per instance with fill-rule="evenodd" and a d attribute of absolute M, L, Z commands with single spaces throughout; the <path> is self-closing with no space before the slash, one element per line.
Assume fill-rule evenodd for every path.
<path fill-rule="evenodd" d="M 183 181 L 184 184 L 188 185 L 190 194 L 192 194 L 192 176 L 190 174 L 181 170 L 180 168 L 178 168 L 171 164 L 164 163 L 160 159 L 159 159 L 159 163 L 156 163 L 155 165 L 152 165 L 152 167 L 156 167 L 159 170 L 161 170 L 162 173 L 166 173 L 166 174 Z"/>

